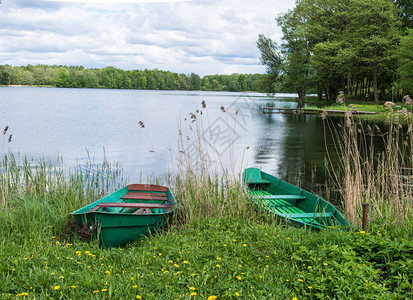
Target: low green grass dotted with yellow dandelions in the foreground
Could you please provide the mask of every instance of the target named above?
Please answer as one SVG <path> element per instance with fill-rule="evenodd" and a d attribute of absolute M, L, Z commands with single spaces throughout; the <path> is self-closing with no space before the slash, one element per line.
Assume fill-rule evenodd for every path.
<path fill-rule="evenodd" d="M 40 234 L 11 234 L 1 242 L 2 298 L 413 296 L 413 242 L 407 235 L 317 233 L 255 217 L 208 218 L 124 248 L 102 249 L 96 240 L 58 239 L 49 224 Z"/>

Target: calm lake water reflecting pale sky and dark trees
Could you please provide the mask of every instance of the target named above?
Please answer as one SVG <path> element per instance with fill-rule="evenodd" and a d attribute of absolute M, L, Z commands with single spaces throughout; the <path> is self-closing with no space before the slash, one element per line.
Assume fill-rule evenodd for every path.
<path fill-rule="evenodd" d="M 102 162 L 106 155 L 110 161 L 119 162 L 131 180 L 141 172 L 156 176 L 168 170 L 175 172 L 179 150 L 191 153 L 194 162 L 199 161 L 195 141 L 201 136 L 212 167 L 222 164 L 235 171 L 261 167 L 313 189 L 325 180 L 322 120 L 315 115 L 261 111 L 271 103 L 297 107 L 297 103 L 286 101 L 294 97 L 1 87 L 0 126 L 10 127 L 13 141 L 9 147 L 14 153 L 34 160 L 43 157 L 53 161 L 62 156 L 69 167 L 76 162 L 82 164 L 88 153 L 96 162 Z M 203 100 L 206 108 L 202 108 Z M 191 113 L 198 123 L 192 122 Z M 139 126 L 139 121 L 145 128 Z M 196 124 L 202 124 L 198 134 Z M 179 131 L 184 149 L 178 148 Z"/>

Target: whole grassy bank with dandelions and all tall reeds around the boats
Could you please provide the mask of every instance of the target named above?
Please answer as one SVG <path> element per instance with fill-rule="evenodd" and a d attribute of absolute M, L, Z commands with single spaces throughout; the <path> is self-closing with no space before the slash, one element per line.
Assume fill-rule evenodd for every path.
<path fill-rule="evenodd" d="M 388 109 L 411 118 L 407 110 Z M 203 132 L 201 121 L 191 122 L 195 132 Z M 380 132 L 352 114 L 338 127 L 325 117 L 325 125 L 336 133 L 340 156 L 331 178 L 354 225 L 345 231 L 285 227 L 257 214 L 239 174 L 211 174 L 206 160 L 194 162 L 182 151 L 177 174 L 160 182 L 179 202 L 169 226 L 103 249 L 96 236 L 81 242 L 69 213 L 124 186 L 118 165 L 89 161 L 65 169 L 62 160 L 32 162 L 3 152 L 0 298 L 412 298 L 411 123 L 392 124 L 382 153 L 369 147 Z M 181 135 L 182 149 L 185 140 Z M 371 208 L 366 231 L 356 227 L 362 202 Z"/>

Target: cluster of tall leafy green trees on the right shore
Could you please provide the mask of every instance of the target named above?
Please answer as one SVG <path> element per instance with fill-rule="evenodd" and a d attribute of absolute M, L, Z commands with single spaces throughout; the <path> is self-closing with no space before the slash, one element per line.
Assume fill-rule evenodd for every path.
<path fill-rule="evenodd" d="M 257 41 L 273 89 L 375 103 L 413 93 L 413 1 L 297 0 L 276 22 L 282 44 Z"/>

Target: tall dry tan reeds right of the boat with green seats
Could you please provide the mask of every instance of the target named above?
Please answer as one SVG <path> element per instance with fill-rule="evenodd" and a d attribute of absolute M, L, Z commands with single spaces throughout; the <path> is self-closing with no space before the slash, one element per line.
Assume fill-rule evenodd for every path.
<path fill-rule="evenodd" d="M 411 106 L 410 97 L 405 97 Z M 337 102 L 344 104 L 344 95 Z M 347 218 L 355 225 L 362 219 L 362 203 L 370 204 L 370 222 L 382 226 L 413 227 L 413 123 L 412 112 L 403 108 L 395 112 L 393 103 L 388 109 L 387 130 L 357 119 L 348 111 L 337 126 L 324 116 L 325 129 L 335 137 L 339 168 L 331 164 L 331 175 L 341 191 Z M 354 107 L 352 108 L 352 110 Z M 403 124 L 400 120 L 403 118 Z M 385 131 L 385 132 L 384 132 Z M 383 145 L 377 149 L 373 143 Z M 409 229 L 410 228 L 410 229 Z"/>

